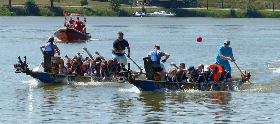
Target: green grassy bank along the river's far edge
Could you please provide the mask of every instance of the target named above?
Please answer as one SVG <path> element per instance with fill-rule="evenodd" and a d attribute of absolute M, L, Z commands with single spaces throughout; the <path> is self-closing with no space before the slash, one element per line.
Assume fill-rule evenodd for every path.
<path fill-rule="evenodd" d="M 112 8 L 89 8 L 89 7 L 39 7 L 42 16 L 62 16 L 63 11 L 70 13 L 83 13 L 86 16 L 132 16 L 133 11 L 141 11 L 141 8 L 121 8 L 114 11 Z M 234 15 L 230 15 L 229 10 L 198 10 L 198 9 L 147 9 L 154 11 L 175 11 L 177 17 L 237 17 L 237 18 L 280 18 L 280 11 L 257 11 L 252 16 L 248 16 L 244 10 L 236 10 Z M 24 7 L 1 7 L 0 15 L 29 15 Z"/>

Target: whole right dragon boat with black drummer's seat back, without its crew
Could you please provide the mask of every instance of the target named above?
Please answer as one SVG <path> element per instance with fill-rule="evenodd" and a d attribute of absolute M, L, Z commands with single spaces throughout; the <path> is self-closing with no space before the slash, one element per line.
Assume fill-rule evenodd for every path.
<path fill-rule="evenodd" d="M 136 79 L 136 78 L 130 78 L 129 80 L 126 80 L 125 76 L 118 75 L 119 82 L 124 82 L 125 80 L 128 81 L 130 84 L 133 84 L 136 86 L 140 91 L 155 91 L 159 89 L 170 89 L 170 90 L 187 90 L 187 89 L 194 89 L 194 90 L 201 90 L 199 87 L 199 83 L 192 83 L 192 82 L 186 82 L 185 85 L 181 88 L 183 85 L 182 82 L 167 82 L 167 81 L 156 81 L 156 77 L 154 75 L 153 69 L 152 69 L 152 62 L 151 58 L 143 58 L 144 64 L 145 64 L 145 72 L 146 72 L 146 80 L 142 79 Z M 231 87 L 229 89 L 233 89 L 236 86 L 242 85 L 244 82 L 250 79 L 250 72 L 246 73 L 245 76 L 241 78 L 232 78 L 233 82 L 231 84 Z M 160 79 L 160 78 L 157 78 Z M 205 87 L 205 90 L 210 89 L 210 84 L 203 84 Z M 207 88 L 208 87 L 208 88 Z M 215 83 L 214 89 L 215 91 L 223 91 L 222 90 L 223 83 Z"/>

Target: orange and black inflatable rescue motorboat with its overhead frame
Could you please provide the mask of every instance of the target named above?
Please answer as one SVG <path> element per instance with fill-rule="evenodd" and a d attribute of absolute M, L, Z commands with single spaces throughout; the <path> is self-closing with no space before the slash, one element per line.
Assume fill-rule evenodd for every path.
<path fill-rule="evenodd" d="M 74 41 L 74 40 L 88 40 L 91 38 L 91 34 L 89 33 L 82 33 L 81 31 L 78 31 L 76 29 L 70 28 L 72 25 L 66 25 L 68 16 L 81 16 L 84 17 L 84 24 L 86 23 L 86 17 L 84 14 L 77 14 L 77 13 L 66 13 L 66 11 L 63 12 L 65 16 L 64 20 L 64 27 L 58 29 L 54 32 L 54 36 L 57 37 L 59 40 L 68 40 L 68 41 Z"/>

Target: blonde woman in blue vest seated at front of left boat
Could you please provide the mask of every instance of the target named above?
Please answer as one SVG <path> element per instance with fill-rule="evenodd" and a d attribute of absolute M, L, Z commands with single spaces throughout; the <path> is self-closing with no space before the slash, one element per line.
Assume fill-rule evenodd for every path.
<path fill-rule="evenodd" d="M 62 67 L 64 66 L 63 59 L 61 57 L 54 57 L 55 51 L 60 55 L 60 51 L 56 45 L 53 44 L 54 37 L 49 36 L 49 39 L 47 41 L 46 45 L 43 45 L 40 47 L 42 54 L 44 54 L 43 48 L 45 48 L 45 51 L 50 51 L 51 53 L 51 62 L 57 63 L 59 62 L 59 73 L 62 73 Z M 43 55 L 44 57 L 44 55 Z"/>

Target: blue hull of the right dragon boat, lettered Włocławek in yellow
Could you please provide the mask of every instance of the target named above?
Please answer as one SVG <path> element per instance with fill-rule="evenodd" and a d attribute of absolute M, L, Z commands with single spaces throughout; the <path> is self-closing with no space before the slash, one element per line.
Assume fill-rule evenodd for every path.
<path fill-rule="evenodd" d="M 155 91 L 159 89 L 170 89 L 170 90 L 188 90 L 188 89 L 194 89 L 194 90 L 201 90 L 199 87 L 199 83 L 189 83 L 186 82 L 183 88 L 181 86 L 183 85 L 182 82 L 166 82 L 166 81 L 152 81 L 152 80 L 133 80 L 129 81 L 129 83 L 133 84 L 136 86 L 140 91 Z M 244 83 L 244 80 L 238 80 L 238 81 L 233 81 L 231 84 L 231 87 L 229 89 L 232 89 L 232 86 L 238 86 Z M 214 84 L 214 89 L 215 91 L 223 91 L 222 90 L 222 83 L 215 83 Z M 207 84 L 204 83 L 204 87 L 207 90 Z M 211 85 L 208 84 L 209 89 L 211 88 Z"/>

